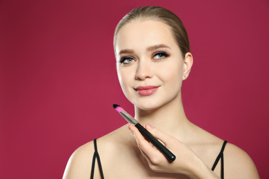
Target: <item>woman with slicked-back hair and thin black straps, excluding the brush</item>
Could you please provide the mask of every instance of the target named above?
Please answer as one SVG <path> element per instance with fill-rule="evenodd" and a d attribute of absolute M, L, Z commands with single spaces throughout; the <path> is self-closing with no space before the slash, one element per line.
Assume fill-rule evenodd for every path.
<path fill-rule="evenodd" d="M 192 67 L 189 46 L 179 18 L 155 6 L 132 10 L 114 33 L 119 83 L 135 118 L 176 160 L 128 125 L 74 151 L 63 178 L 259 178 L 248 154 L 186 118 L 181 84 Z M 98 164 L 92 156 L 100 156 Z"/>

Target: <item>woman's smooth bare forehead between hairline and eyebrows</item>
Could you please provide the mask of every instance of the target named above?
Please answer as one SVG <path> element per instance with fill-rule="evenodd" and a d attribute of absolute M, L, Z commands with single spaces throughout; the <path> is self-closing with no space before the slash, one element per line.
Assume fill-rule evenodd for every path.
<path fill-rule="evenodd" d="M 116 36 L 115 52 L 141 50 L 151 45 L 166 44 L 178 48 L 170 27 L 161 21 L 134 20 L 124 25 Z"/>

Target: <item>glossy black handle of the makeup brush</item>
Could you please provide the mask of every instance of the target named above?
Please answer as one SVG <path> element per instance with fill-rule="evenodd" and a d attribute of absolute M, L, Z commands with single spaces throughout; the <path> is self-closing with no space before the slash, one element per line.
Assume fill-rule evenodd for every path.
<path fill-rule="evenodd" d="M 137 123 L 135 125 L 135 127 L 137 127 L 137 129 L 140 131 L 140 133 L 146 139 L 148 139 L 148 141 L 150 141 L 150 143 L 152 143 L 152 145 L 154 145 L 157 149 L 159 149 L 159 151 L 161 151 L 161 153 L 164 156 L 166 156 L 166 158 L 168 158 L 168 160 L 170 160 L 172 162 L 176 159 L 176 156 L 174 154 L 172 154 L 172 152 L 170 150 L 168 150 L 164 145 L 162 145 L 159 142 L 159 140 L 157 140 L 154 136 L 152 136 L 152 134 L 150 134 L 150 132 L 147 131 L 141 124 Z"/>

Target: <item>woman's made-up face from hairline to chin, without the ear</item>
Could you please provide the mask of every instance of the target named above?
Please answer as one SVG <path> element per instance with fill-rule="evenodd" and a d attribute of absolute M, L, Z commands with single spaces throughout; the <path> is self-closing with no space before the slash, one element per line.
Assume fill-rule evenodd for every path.
<path fill-rule="evenodd" d="M 153 20 L 135 20 L 116 36 L 117 74 L 123 93 L 140 109 L 180 100 L 184 59 L 170 28 Z"/>

